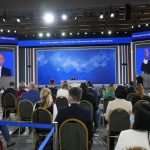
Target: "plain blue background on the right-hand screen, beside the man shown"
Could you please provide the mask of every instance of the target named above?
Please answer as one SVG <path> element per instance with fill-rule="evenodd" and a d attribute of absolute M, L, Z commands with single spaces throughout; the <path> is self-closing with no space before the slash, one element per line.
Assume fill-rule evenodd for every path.
<path fill-rule="evenodd" d="M 145 48 L 136 48 L 136 74 L 137 75 L 141 75 L 142 74 L 142 70 L 141 70 L 141 66 L 142 66 L 142 62 L 144 60 L 144 50 L 148 49 L 149 54 L 150 54 L 150 47 L 145 47 Z"/>

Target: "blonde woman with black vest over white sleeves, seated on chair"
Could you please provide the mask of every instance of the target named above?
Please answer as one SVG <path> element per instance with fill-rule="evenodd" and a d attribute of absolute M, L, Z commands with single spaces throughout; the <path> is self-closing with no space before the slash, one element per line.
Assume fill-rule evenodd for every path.
<path fill-rule="evenodd" d="M 35 109 L 44 108 L 47 109 L 53 116 L 53 121 L 55 120 L 58 110 L 56 104 L 53 102 L 51 95 L 51 90 L 48 88 L 43 88 L 40 92 L 41 101 L 35 104 Z"/>

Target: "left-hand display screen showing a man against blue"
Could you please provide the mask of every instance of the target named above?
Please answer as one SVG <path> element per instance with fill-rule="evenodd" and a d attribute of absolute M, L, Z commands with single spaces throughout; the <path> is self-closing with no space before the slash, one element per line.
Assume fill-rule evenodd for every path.
<path fill-rule="evenodd" d="M 14 76 L 14 51 L 0 50 L 0 77 Z"/>

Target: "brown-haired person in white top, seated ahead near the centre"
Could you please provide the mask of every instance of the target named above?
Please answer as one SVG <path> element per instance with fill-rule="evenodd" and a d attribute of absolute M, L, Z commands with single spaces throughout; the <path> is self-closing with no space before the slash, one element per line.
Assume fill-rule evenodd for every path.
<path fill-rule="evenodd" d="M 68 100 L 69 91 L 68 91 L 68 83 L 67 82 L 63 82 L 62 87 L 57 91 L 56 97 L 60 97 L 60 96 L 64 96 Z"/>

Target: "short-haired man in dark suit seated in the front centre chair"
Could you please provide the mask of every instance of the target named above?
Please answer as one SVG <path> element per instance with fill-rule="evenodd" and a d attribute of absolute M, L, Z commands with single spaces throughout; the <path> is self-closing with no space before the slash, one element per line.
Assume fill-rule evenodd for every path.
<path fill-rule="evenodd" d="M 81 120 L 87 126 L 90 147 L 93 138 L 93 120 L 90 111 L 80 105 L 81 96 L 82 91 L 80 88 L 71 88 L 69 90 L 69 102 L 71 106 L 60 109 L 56 117 L 56 121 L 58 121 L 58 124 L 60 126 L 61 123 L 66 119 L 75 118 Z"/>

